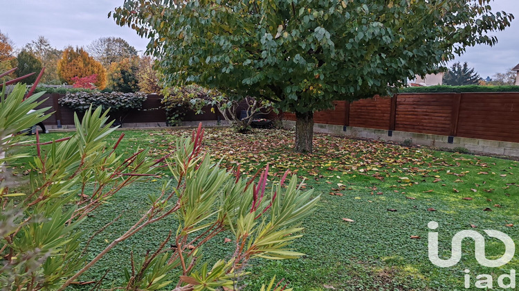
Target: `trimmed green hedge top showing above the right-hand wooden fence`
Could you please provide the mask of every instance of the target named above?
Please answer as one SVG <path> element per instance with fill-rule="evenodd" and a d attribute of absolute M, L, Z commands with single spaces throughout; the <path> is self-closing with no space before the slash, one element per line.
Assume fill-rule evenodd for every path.
<path fill-rule="evenodd" d="M 406 87 L 399 90 L 400 93 L 463 93 L 463 92 L 519 92 L 519 86 L 429 86 Z"/>

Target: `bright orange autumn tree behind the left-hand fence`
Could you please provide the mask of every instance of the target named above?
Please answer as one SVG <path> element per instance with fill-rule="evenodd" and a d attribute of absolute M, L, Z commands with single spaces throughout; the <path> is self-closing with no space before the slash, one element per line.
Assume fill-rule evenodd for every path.
<path fill-rule="evenodd" d="M 65 48 L 62 58 L 57 62 L 57 73 L 62 82 L 73 84 L 73 77 L 87 77 L 95 74 L 95 87 L 102 90 L 107 87 L 107 73 L 102 64 L 94 60 L 83 48 L 72 46 Z"/>

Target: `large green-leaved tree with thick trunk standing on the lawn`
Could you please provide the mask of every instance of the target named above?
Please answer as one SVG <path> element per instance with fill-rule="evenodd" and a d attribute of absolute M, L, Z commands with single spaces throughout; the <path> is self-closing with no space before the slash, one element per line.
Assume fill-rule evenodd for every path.
<path fill-rule="evenodd" d="M 392 94 L 510 25 L 490 0 L 125 0 L 113 17 L 149 37 L 170 83 L 273 101 L 311 152 L 313 112 Z"/>

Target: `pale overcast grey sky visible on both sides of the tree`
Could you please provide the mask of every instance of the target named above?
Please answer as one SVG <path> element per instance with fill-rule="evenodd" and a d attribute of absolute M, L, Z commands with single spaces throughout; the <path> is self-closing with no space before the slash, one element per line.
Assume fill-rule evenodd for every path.
<path fill-rule="evenodd" d="M 147 40 L 130 28 L 117 26 L 107 18 L 123 0 L 0 0 L 0 30 L 17 47 L 36 39 L 48 38 L 57 48 L 86 46 L 99 37 L 122 37 L 138 51 L 145 51 Z M 519 0 L 495 0 L 493 10 L 516 16 L 511 27 L 498 33 L 498 44 L 467 48 L 456 61 L 468 62 L 482 78 L 504 72 L 519 64 Z"/>

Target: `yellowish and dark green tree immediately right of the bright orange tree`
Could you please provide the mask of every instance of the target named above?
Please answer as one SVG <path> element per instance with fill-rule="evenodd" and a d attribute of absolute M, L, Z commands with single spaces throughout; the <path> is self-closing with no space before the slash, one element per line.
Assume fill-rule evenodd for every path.
<path fill-rule="evenodd" d="M 112 62 L 107 72 L 107 86 L 113 91 L 124 93 L 138 91 L 136 76 L 138 69 L 138 57 L 125 58 L 119 62 Z"/>

